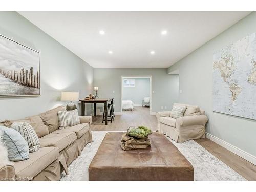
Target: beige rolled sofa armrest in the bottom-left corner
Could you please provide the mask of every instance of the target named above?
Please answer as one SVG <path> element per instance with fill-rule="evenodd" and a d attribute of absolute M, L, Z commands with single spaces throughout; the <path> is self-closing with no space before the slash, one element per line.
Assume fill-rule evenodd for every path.
<path fill-rule="evenodd" d="M 12 164 L 0 163 L 0 181 L 14 181 L 15 169 Z"/>

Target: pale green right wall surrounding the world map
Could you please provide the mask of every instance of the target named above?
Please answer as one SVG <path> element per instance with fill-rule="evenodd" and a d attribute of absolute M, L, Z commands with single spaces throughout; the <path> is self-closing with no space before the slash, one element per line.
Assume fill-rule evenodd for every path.
<path fill-rule="evenodd" d="M 215 51 L 256 32 L 256 12 L 189 54 L 168 72 L 179 69 L 179 102 L 199 105 L 209 118 L 207 133 L 256 156 L 256 121 L 212 112 L 212 55 Z"/>

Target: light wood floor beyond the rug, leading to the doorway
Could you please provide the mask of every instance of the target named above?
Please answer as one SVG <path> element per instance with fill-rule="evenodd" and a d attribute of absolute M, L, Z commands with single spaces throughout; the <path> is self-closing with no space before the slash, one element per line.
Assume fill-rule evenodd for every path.
<path fill-rule="evenodd" d="M 91 130 L 126 131 L 129 126 L 140 125 L 157 130 L 157 119 L 155 115 L 150 115 L 150 108 L 136 106 L 134 111 L 123 111 L 123 115 L 116 115 L 113 123 L 108 121 L 108 125 L 102 123 L 102 115 L 93 117 Z"/>

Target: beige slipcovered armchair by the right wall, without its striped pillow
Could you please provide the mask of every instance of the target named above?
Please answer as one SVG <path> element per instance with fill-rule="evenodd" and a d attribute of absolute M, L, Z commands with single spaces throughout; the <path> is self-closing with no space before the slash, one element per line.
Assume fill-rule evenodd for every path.
<path fill-rule="evenodd" d="M 208 121 L 205 112 L 199 106 L 175 103 L 186 106 L 183 117 L 170 117 L 172 111 L 157 112 L 157 131 L 165 134 L 175 142 L 183 143 L 190 139 L 205 137 L 205 124 Z"/>

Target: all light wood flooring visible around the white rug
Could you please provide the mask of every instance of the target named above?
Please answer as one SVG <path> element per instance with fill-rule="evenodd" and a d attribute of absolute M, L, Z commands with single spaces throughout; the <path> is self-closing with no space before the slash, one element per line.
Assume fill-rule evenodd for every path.
<path fill-rule="evenodd" d="M 116 115 L 113 123 L 109 121 L 108 125 L 102 123 L 102 115 L 93 117 L 91 130 L 126 131 L 129 126 L 139 125 L 156 131 L 157 119 L 155 115 L 150 115 L 149 108 L 136 106 L 134 111 L 123 111 L 123 115 Z M 195 141 L 245 179 L 256 181 L 256 166 L 252 163 L 207 138 Z"/>

